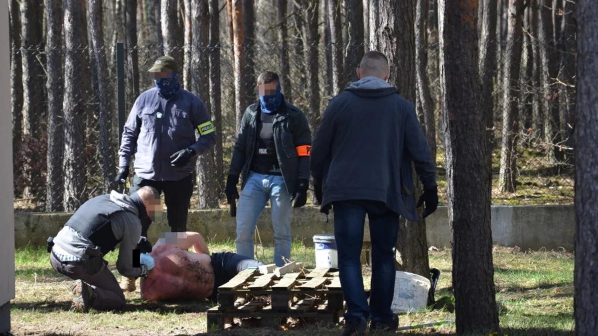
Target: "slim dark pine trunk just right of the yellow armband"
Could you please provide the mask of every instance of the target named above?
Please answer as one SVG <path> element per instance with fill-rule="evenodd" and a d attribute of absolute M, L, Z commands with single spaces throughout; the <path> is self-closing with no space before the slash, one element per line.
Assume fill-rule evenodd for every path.
<path fill-rule="evenodd" d="M 222 149 L 222 97 L 221 97 L 221 69 L 220 69 L 220 16 L 218 0 L 209 0 L 210 16 L 210 108 L 212 109 L 212 121 L 216 128 L 216 145 L 212 157 L 215 160 L 216 184 L 218 195 L 224 190 L 224 158 Z"/>

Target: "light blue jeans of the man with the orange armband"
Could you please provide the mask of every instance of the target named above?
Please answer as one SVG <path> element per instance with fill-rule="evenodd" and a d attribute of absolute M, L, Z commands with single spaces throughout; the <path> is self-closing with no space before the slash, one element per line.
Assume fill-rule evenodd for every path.
<path fill-rule="evenodd" d="M 291 256 L 291 195 L 282 176 L 250 172 L 237 206 L 237 253 L 254 256 L 254 231 L 260 213 L 270 200 L 274 228 L 274 264 Z"/>

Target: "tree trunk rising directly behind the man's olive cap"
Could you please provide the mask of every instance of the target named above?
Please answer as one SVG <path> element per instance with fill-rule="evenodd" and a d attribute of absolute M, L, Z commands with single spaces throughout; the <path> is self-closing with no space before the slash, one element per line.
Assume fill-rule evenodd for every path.
<path fill-rule="evenodd" d="M 161 0 L 161 30 L 164 44 L 164 55 L 175 58 L 183 65 L 181 35 L 178 33 L 178 1 Z"/>

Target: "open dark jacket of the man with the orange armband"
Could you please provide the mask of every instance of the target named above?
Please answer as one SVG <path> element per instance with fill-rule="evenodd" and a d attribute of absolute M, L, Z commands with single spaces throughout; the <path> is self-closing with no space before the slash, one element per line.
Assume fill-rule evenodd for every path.
<path fill-rule="evenodd" d="M 245 110 L 241 120 L 237 142 L 233 148 L 229 175 L 242 176 L 245 187 L 249 167 L 254 157 L 257 126 L 261 117 L 260 102 L 255 102 Z M 312 132 L 307 118 L 291 103 L 283 100 L 273 120 L 274 146 L 276 156 L 289 194 L 295 193 L 295 184 L 299 179 L 309 179 L 309 156 L 299 156 L 297 147 L 312 145 Z"/>

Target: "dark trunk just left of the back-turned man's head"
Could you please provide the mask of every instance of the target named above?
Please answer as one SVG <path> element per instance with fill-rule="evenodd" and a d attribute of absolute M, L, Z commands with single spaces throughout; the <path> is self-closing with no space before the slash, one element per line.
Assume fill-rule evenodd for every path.
<path fill-rule="evenodd" d="M 369 20 L 367 13 L 364 13 L 365 7 L 362 0 L 345 0 L 344 7 L 347 11 L 345 23 L 349 25 L 349 33 L 347 34 L 347 48 L 344 53 L 344 83 L 341 88 L 357 80 L 355 69 L 358 68 L 361 57 L 364 57 L 365 46 L 368 45 L 367 41 L 364 41 L 364 37 L 368 36 L 364 32 L 364 21 Z"/>

